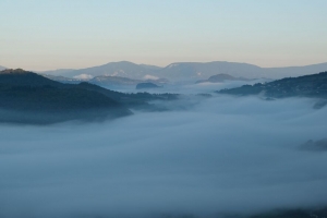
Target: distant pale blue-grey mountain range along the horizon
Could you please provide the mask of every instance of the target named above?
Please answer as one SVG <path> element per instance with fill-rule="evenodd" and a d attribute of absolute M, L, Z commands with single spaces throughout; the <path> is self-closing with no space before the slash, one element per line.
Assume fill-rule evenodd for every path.
<path fill-rule="evenodd" d="M 231 76 L 246 78 L 282 78 L 313 74 L 326 70 L 327 63 L 304 66 L 261 68 L 249 63 L 214 61 L 206 63 L 180 62 L 171 63 L 166 68 L 160 68 L 146 64 L 135 64 L 129 61 L 120 61 L 80 70 L 56 70 L 45 71 L 41 73 L 68 77 L 85 74 L 90 76 L 121 76 L 133 80 L 168 78 L 169 81 L 197 81 L 207 80 L 216 74 L 229 74 Z"/>

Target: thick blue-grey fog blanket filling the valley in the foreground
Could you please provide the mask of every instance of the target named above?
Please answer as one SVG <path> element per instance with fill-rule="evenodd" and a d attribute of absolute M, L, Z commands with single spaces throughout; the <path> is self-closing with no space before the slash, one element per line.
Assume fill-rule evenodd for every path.
<path fill-rule="evenodd" d="M 327 205 L 327 108 L 214 96 L 104 123 L 0 124 L 0 217 L 223 217 Z"/>

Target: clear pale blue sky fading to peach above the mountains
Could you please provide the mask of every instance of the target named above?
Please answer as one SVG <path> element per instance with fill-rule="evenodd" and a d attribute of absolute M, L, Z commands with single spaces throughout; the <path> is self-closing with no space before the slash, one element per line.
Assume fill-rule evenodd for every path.
<path fill-rule="evenodd" d="M 0 65 L 327 61 L 325 0 L 0 0 Z"/>

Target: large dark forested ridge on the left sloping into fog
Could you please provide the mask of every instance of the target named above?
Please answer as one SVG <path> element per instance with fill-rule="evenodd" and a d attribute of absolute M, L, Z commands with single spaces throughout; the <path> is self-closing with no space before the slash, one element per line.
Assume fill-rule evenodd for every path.
<path fill-rule="evenodd" d="M 62 84 L 21 69 L 0 72 L 0 122 L 46 124 L 119 118 L 132 114 L 130 108 L 148 108 L 149 100 L 174 97 L 122 94 L 88 83 Z"/>

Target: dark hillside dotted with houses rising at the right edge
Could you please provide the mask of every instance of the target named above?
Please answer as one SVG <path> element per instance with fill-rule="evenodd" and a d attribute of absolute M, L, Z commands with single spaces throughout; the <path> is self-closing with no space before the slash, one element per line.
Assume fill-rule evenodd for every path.
<path fill-rule="evenodd" d="M 217 93 L 231 95 L 258 95 L 268 98 L 314 97 L 327 99 L 327 71 L 299 77 L 287 77 L 270 83 L 243 85 L 237 88 L 221 89 Z"/>

